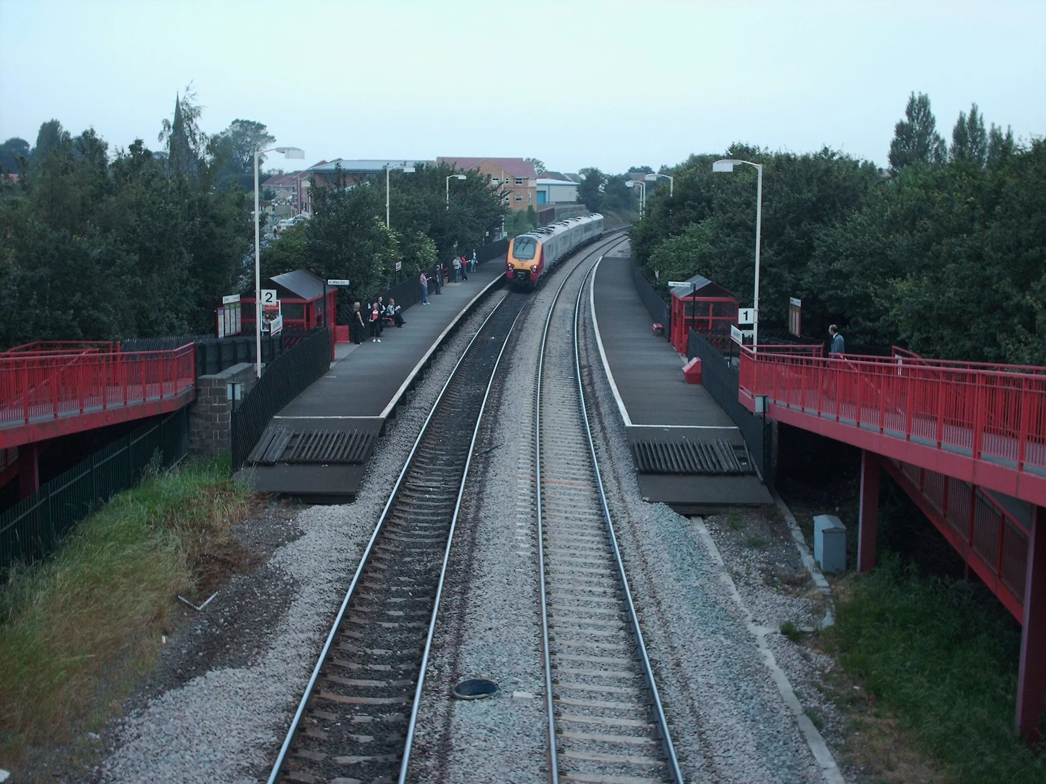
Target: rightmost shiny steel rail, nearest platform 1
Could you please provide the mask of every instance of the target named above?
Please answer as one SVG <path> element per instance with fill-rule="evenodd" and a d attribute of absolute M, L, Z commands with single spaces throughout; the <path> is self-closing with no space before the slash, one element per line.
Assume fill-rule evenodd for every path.
<path fill-rule="evenodd" d="M 586 275 L 586 282 L 588 281 L 589 276 L 592 278 L 589 286 L 590 291 L 593 293 L 593 297 L 595 291 L 594 272 L 598 269 L 599 261 L 601 260 L 602 256 L 599 257 L 599 260 L 592 266 L 588 275 Z M 621 552 L 617 547 L 617 535 L 614 533 L 614 523 L 610 515 L 610 508 L 607 505 L 607 493 L 602 485 L 602 475 L 599 471 L 599 461 L 596 458 L 595 443 L 592 440 L 592 428 L 589 422 L 588 402 L 585 397 L 585 384 L 582 377 L 581 349 L 578 340 L 581 331 L 578 324 L 581 321 L 582 295 L 584 292 L 585 283 L 583 282 L 582 287 L 577 292 L 577 302 L 574 305 L 574 371 L 577 379 L 577 395 L 581 399 L 582 421 L 585 424 L 585 433 L 588 436 L 589 454 L 592 456 L 592 468 L 595 474 L 599 503 L 602 506 L 604 522 L 607 524 L 607 533 L 610 537 L 611 551 L 614 553 L 614 562 L 617 566 L 617 574 L 621 582 L 621 591 L 624 594 L 629 621 L 632 624 L 632 629 L 635 635 L 636 652 L 642 663 L 643 678 L 646 682 L 646 687 L 650 689 L 651 701 L 657 719 L 658 734 L 661 736 L 662 751 L 664 752 L 665 759 L 668 762 L 668 771 L 672 775 L 673 781 L 676 782 L 676 784 L 684 784 L 683 773 L 679 769 L 679 759 L 676 756 L 676 747 L 672 742 L 672 735 L 668 732 L 668 721 L 664 716 L 664 708 L 661 705 L 661 695 L 658 692 L 657 684 L 655 683 L 650 656 L 646 654 L 646 645 L 643 642 L 643 632 L 642 629 L 639 628 L 639 618 L 636 615 L 636 606 L 632 600 L 632 591 L 629 587 L 629 578 L 624 572 L 624 563 L 621 560 Z"/>

